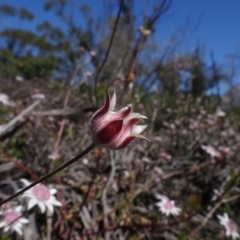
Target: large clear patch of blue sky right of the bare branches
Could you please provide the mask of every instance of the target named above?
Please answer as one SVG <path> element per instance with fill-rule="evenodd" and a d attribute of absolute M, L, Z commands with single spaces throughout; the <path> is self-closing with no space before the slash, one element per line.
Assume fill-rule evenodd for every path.
<path fill-rule="evenodd" d="M 213 51 L 217 61 L 240 48 L 240 1 L 238 0 L 182 0 L 174 1 L 173 17 L 167 21 L 165 31 L 188 18 L 198 27 L 188 36 L 187 46 L 203 44 Z"/>

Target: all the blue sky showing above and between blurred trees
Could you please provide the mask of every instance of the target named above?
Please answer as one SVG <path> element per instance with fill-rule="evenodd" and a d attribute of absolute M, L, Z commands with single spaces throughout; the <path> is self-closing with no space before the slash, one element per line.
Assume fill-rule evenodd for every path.
<path fill-rule="evenodd" d="M 77 13 L 82 3 L 90 5 L 92 12 L 99 16 L 104 14 L 101 0 L 69 0 L 72 4 L 69 13 L 81 23 Z M 144 0 L 135 0 L 135 11 L 142 19 Z M 145 0 L 146 12 L 150 13 L 154 3 L 158 0 Z M 43 9 L 44 0 L 0 0 L 0 4 L 7 3 L 15 7 L 26 7 L 35 14 L 33 23 L 16 22 L 0 16 L 0 30 L 5 27 L 19 26 L 34 29 L 36 23 L 48 19 L 53 25 L 59 25 L 57 17 Z M 239 0 L 173 0 L 170 10 L 163 16 L 156 26 L 154 39 L 166 42 L 179 28 L 187 26 L 182 50 L 193 50 L 196 45 L 204 47 L 205 57 L 210 60 L 210 51 L 214 52 L 217 63 L 225 63 L 227 54 L 238 54 L 240 50 L 240 1 Z M 21 26 L 20 26 L 21 24 Z M 238 79 L 235 79 L 238 82 Z"/>

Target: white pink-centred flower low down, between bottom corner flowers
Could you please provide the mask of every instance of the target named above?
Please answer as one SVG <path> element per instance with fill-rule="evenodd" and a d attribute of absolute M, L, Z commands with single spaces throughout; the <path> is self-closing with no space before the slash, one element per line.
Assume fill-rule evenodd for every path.
<path fill-rule="evenodd" d="M 181 209 L 175 206 L 174 201 L 170 200 L 167 196 L 160 194 L 157 194 L 156 197 L 160 200 L 156 205 L 163 214 L 166 214 L 167 216 L 170 214 L 175 216 L 179 215 Z"/>

